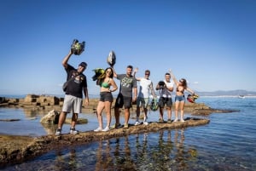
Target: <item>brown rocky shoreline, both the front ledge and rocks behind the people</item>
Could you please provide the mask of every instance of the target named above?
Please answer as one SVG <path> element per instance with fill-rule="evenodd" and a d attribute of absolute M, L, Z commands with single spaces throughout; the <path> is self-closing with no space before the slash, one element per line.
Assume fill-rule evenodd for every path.
<path fill-rule="evenodd" d="M 61 99 L 55 96 L 40 96 L 34 94 L 28 94 L 24 99 L 9 99 L 5 98 L 5 101 L 1 104 L 4 107 L 20 107 L 30 108 L 33 110 L 50 111 L 52 109 L 61 110 Z M 83 112 L 96 112 L 96 105 L 98 99 L 91 99 L 90 105 L 83 105 Z M 1 107 L 1 106 L 0 106 Z M 173 106 L 174 107 L 174 106 Z M 133 105 L 131 112 L 135 112 L 136 105 Z M 212 112 L 232 112 L 226 110 L 216 110 L 205 104 L 189 104 L 186 103 L 185 111 L 194 115 L 209 115 Z M 121 114 L 123 114 L 121 110 Z M 156 123 L 152 122 L 148 126 L 130 125 L 129 128 L 117 128 L 112 129 L 109 132 L 85 131 L 78 135 L 63 134 L 61 136 L 44 135 L 39 137 L 19 136 L 1 134 L 0 140 L 0 166 L 4 167 L 9 164 L 17 162 L 23 162 L 34 157 L 38 157 L 47 151 L 53 150 L 56 147 L 61 148 L 67 145 L 86 144 L 97 140 L 107 140 L 113 137 L 122 137 L 128 134 L 140 134 L 145 132 L 155 132 L 160 129 L 167 128 L 187 128 L 204 125 L 210 122 L 208 119 L 199 119 L 195 117 L 187 117 L 185 123 Z"/>

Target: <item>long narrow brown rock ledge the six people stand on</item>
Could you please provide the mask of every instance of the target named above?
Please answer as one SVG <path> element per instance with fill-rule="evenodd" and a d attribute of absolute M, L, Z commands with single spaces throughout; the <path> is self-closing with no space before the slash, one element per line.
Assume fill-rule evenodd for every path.
<path fill-rule="evenodd" d="M 160 129 L 188 128 L 210 123 L 208 119 L 188 117 L 184 123 L 149 123 L 129 125 L 129 128 L 113 128 L 108 132 L 86 131 L 79 134 L 45 135 L 37 138 L 29 136 L 0 135 L 0 167 L 23 162 L 38 157 L 50 150 L 67 145 L 82 145 L 97 140 L 108 140 L 129 134 L 157 132 Z"/>

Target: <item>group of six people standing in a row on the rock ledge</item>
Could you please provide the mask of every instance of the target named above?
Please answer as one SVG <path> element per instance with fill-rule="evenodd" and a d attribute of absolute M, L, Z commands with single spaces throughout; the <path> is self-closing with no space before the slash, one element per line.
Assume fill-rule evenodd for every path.
<path fill-rule="evenodd" d="M 89 105 L 89 96 L 87 89 L 87 80 L 83 72 L 86 70 L 87 64 L 81 62 L 79 67 L 75 69 L 73 66 L 68 64 L 68 60 L 72 56 L 73 51 L 70 50 L 69 53 L 62 60 L 62 66 L 64 66 L 67 71 L 67 80 L 71 80 L 67 85 L 67 90 L 65 93 L 64 103 L 62 106 L 62 111 L 59 117 L 58 128 L 55 135 L 61 134 L 61 128 L 67 113 L 73 113 L 72 123 L 70 127 L 70 134 L 79 134 L 79 131 L 75 129 L 75 124 L 78 120 L 78 115 L 82 111 L 83 102 L 83 92 L 85 105 Z M 143 124 L 148 125 L 148 103 L 150 94 L 156 99 L 157 96 L 154 92 L 154 86 L 150 80 L 150 71 L 145 71 L 144 77 L 136 77 L 138 69 L 133 71 L 132 66 L 126 67 L 125 74 L 117 74 L 113 66 L 108 67 L 103 76 L 96 80 L 96 85 L 100 86 L 100 100 L 96 108 L 96 116 L 99 123 L 99 127 L 94 131 L 109 131 L 110 128 L 120 128 L 122 127 L 119 121 L 119 109 L 125 109 L 125 123 L 124 128 L 129 128 L 130 119 L 130 109 L 132 103 L 137 103 L 137 119 L 134 125 L 141 124 L 139 122 L 141 107 L 143 107 Z M 118 89 L 113 77 L 120 81 L 119 94 L 115 100 L 114 104 L 114 117 L 115 123 L 110 126 L 112 116 L 111 116 L 111 106 L 113 103 L 112 92 Z M 172 77 L 172 80 L 171 80 Z M 137 88 L 137 82 L 139 82 L 139 88 Z M 159 82 L 156 85 L 156 90 L 160 91 L 160 99 L 158 102 L 160 108 L 160 119 L 159 123 L 165 123 L 164 121 L 164 107 L 166 106 L 168 120 L 167 123 L 172 123 L 172 91 L 174 90 L 174 84 L 176 85 L 176 96 L 175 96 L 175 119 L 173 122 L 178 121 L 178 110 L 180 110 L 180 122 L 183 120 L 183 108 L 185 103 L 184 90 L 189 91 L 191 94 L 195 92 L 187 86 L 187 82 L 184 78 L 177 81 L 176 77 L 173 75 L 172 71 L 166 72 L 165 80 Z M 107 125 L 103 128 L 102 123 L 102 111 L 105 109 L 107 116 Z"/>

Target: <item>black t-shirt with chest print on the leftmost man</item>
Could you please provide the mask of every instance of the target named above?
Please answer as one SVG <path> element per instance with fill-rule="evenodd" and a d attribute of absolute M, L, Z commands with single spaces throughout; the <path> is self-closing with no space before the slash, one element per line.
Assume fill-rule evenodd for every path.
<path fill-rule="evenodd" d="M 67 85 L 66 94 L 83 98 L 83 89 L 87 88 L 86 76 L 84 76 L 83 73 L 79 74 L 79 72 L 70 65 L 67 65 L 65 70 L 67 71 L 67 80 L 71 79 Z"/>

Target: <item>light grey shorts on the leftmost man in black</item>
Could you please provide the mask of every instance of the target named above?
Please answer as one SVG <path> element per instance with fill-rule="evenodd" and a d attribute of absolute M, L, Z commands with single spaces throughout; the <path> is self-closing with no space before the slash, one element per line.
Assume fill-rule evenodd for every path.
<path fill-rule="evenodd" d="M 73 95 L 65 94 L 62 111 L 67 113 L 81 113 L 82 112 L 83 99 L 75 97 Z"/>

